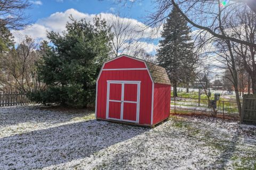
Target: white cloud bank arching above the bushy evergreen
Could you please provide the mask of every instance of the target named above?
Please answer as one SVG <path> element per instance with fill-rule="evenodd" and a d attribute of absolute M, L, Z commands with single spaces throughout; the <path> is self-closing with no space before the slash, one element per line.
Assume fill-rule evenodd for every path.
<path fill-rule="evenodd" d="M 66 30 L 66 23 L 70 21 L 70 15 L 73 16 L 74 19 L 81 20 L 85 19 L 88 22 L 92 22 L 93 18 L 96 14 L 86 14 L 79 12 L 73 8 L 66 10 L 65 12 L 56 12 L 51 14 L 47 18 L 39 19 L 35 24 L 29 25 L 29 27 L 19 30 L 19 31 L 12 31 L 14 35 L 14 40 L 16 43 L 20 43 L 20 41 L 28 35 L 33 37 L 37 40 L 47 40 L 47 31 L 55 31 L 55 32 L 62 32 Z M 100 13 L 101 18 L 105 19 L 108 22 L 111 22 L 110 18 L 118 17 L 111 13 Z M 153 33 L 154 29 L 146 29 L 143 33 L 139 33 L 141 29 L 145 28 L 146 25 L 130 18 L 122 18 L 125 23 L 130 23 L 130 27 L 136 28 L 133 32 L 133 38 L 143 37 L 143 39 L 148 38 L 149 36 L 154 35 L 154 38 L 159 38 L 157 33 Z M 148 53 L 155 52 L 157 46 L 153 43 L 147 43 L 146 40 L 143 42 L 141 40 L 141 47 L 146 50 Z"/>

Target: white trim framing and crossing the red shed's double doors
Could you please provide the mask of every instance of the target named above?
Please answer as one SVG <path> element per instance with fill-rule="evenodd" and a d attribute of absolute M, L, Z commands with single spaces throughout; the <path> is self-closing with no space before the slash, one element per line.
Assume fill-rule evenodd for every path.
<path fill-rule="evenodd" d="M 122 84 L 122 94 L 121 94 L 121 100 L 110 100 L 109 99 L 109 90 L 110 90 L 110 84 Z M 125 122 L 133 122 L 133 123 L 139 123 L 139 117 L 140 117 L 140 83 L 141 81 L 117 81 L 117 80 L 107 80 L 107 106 L 106 106 L 106 119 L 110 120 L 117 120 L 117 121 L 125 121 Z M 124 100 L 124 84 L 137 84 L 137 101 L 127 101 Z M 121 103 L 121 115 L 120 119 L 118 118 L 111 118 L 109 117 L 109 101 L 114 102 L 120 102 Z M 124 109 L 124 103 L 134 103 L 137 104 L 137 113 L 136 113 L 136 121 L 131 120 L 125 120 L 123 118 L 123 109 Z"/>

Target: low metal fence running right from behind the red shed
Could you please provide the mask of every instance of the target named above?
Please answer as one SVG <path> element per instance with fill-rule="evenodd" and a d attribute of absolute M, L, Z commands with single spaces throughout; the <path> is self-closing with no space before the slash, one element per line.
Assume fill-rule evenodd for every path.
<path fill-rule="evenodd" d="M 203 113 L 211 114 L 213 100 L 189 97 L 171 97 L 171 112 L 175 114 Z M 217 116 L 238 117 L 238 108 L 235 101 L 217 100 L 214 103 Z"/>

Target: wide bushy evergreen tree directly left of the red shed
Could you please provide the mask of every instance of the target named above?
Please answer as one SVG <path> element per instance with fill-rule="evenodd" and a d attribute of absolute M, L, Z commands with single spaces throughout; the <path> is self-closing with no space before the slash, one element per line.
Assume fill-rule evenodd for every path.
<path fill-rule="evenodd" d="M 62 35 L 48 33 L 54 46 L 41 45 L 38 70 L 46 89 L 30 95 L 34 101 L 76 107 L 95 101 L 95 81 L 110 53 L 109 28 L 98 17 L 93 24 L 71 20 Z"/>

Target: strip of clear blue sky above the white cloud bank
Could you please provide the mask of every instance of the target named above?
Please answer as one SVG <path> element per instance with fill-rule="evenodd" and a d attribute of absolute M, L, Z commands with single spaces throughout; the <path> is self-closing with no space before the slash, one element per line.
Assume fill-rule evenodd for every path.
<path fill-rule="evenodd" d="M 31 22 L 36 22 L 38 19 L 45 18 L 55 12 L 64 12 L 69 8 L 88 14 L 110 13 L 115 10 L 114 12 L 119 11 L 123 15 L 138 21 L 143 21 L 142 18 L 145 18 L 146 13 L 153 10 L 151 2 L 148 0 L 133 4 L 128 1 L 127 7 L 123 4 L 115 4 L 113 0 L 41 0 L 30 2 L 34 3 L 33 8 L 27 10 Z"/>

